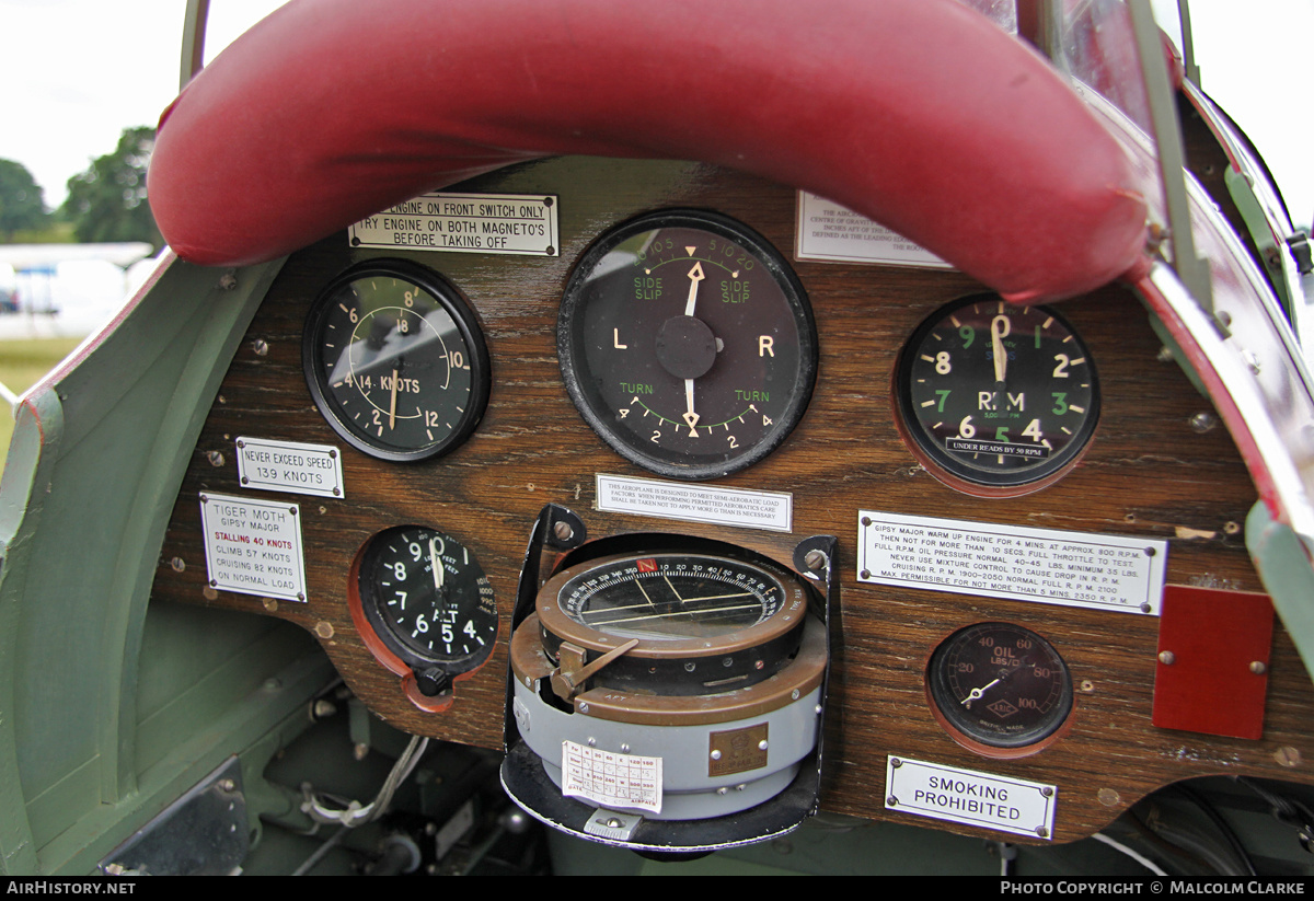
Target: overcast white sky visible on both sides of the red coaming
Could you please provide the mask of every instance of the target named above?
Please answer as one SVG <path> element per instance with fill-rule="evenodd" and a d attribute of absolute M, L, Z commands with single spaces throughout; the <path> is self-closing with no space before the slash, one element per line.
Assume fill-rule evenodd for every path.
<path fill-rule="evenodd" d="M 1154 0 L 1156 8 L 1166 3 Z M 212 0 L 206 56 L 276 5 Z M 47 208 L 63 202 L 70 177 L 114 150 L 124 129 L 155 125 L 177 93 L 185 7 L 0 0 L 0 159 L 28 167 Z M 1205 92 L 1259 146 L 1293 219 L 1309 226 L 1314 127 L 1298 116 L 1307 108 L 1314 0 L 1192 0 L 1190 8 Z"/>

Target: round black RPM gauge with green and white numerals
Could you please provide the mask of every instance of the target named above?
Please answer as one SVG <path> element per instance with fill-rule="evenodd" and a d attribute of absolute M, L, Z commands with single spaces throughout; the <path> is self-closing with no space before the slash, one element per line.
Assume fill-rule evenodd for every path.
<path fill-rule="evenodd" d="M 904 348 L 896 391 L 903 428 L 929 472 L 997 494 L 1058 478 L 1100 415 L 1095 364 L 1072 327 L 1047 307 L 993 294 L 922 323 Z"/>

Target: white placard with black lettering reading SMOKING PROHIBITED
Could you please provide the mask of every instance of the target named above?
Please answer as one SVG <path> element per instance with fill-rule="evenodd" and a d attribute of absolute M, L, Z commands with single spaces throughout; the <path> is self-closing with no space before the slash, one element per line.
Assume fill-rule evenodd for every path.
<path fill-rule="evenodd" d="M 886 810 L 1054 838 L 1058 788 L 988 772 L 890 757 Z"/>

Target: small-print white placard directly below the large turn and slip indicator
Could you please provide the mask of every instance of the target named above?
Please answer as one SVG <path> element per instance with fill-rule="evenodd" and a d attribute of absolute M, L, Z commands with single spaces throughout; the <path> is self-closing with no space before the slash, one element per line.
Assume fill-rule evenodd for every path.
<path fill-rule="evenodd" d="M 602 473 L 597 475 L 597 490 L 598 510 L 612 514 L 769 532 L 788 532 L 794 523 L 794 495 L 783 491 L 745 491 Z"/>

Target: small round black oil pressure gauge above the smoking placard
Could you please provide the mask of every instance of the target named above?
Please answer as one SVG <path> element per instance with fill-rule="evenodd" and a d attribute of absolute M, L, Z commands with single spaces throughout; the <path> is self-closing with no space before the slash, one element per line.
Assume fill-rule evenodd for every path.
<path fill-rule="evenodd" d="M 1009 623 L 955 632 L 932 654 L 932 703 L 953 732 L 995 749 L 1035 745 L 1072 711 L 1072 679 L 1054 645 Z"/>

